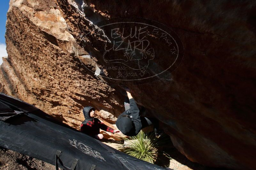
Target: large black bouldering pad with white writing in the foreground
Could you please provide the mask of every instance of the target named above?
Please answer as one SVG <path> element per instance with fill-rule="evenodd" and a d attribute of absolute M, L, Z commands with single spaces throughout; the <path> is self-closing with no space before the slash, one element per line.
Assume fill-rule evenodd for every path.
<path fill-rule="evenodd" d="M 0 146 L 72 170 L 163 170 L 0 94 Z"/>

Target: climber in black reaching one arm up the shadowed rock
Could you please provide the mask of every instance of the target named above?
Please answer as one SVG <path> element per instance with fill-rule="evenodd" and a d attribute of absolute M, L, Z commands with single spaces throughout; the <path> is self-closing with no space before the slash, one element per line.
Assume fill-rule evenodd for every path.
<path fill-rule="evenodd" d="M 147 118 L 140 116 L 140 110 L 133 99 L 130 89 L 126 89 L 127 96 L 125 98 L 125 111 L 117 118 L 117 128 L 126 136 L 136 136 L 144 127 L 154 125 L 155 135 L 159 138 L 163 134 L 163 130 L 159 130 L 159 122 L 155 118 Z"/>

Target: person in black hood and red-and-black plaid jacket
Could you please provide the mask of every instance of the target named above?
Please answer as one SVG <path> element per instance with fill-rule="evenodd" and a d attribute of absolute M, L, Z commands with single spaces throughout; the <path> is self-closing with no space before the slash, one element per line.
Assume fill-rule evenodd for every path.
<path fill-rule="evenodd" d="M 93 138 L 102 139 L 104 136 L 100 134 L 100 129 L 103 131 L 108 131 L 111 133 L 117 133 L 119 131 L 108 127 L 102 123 L 98 118 L 95 117 L 95 109 L 91 106 L 86 106 L 83 108 L 83 115 L 85 120 L 80 126 L 80 131 L 85 133 Z"/>

